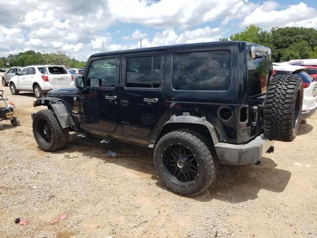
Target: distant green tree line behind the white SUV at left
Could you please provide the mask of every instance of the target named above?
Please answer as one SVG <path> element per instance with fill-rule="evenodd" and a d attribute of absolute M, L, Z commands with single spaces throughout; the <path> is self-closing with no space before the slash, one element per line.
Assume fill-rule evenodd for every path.
<path fill-rule="evenodd" d="M 20 52 L 17 55 L 8 55 L 8 57 L 0 58 L 0 68 L 5 68 L 6 62 L 10 63 L 12 66 L 28 66 L 32 64 L 57 64 L 65 65 L 70 68 L 83 68 L 86 65 L 86 61 L 78 61 L 74 58 L 70 58 L 61 50 L 56 51 L 56 53 L 41 54 L 35 51 Z"/>

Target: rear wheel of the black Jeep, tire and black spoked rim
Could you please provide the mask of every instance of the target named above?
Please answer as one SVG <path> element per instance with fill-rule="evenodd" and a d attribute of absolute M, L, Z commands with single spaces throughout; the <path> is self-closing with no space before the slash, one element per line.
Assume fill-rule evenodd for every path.
<path fill-rule="evenodd" d="M 211 141 L 189 130 L 172 131 L 158 142 L 154 166 L 159 178 L 175 193 L 197 195 L 216 178 L 217 156 Z"/>

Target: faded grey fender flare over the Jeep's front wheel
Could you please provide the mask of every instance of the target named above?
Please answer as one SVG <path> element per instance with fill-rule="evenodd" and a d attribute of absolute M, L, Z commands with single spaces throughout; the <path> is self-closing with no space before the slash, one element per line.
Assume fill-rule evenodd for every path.
<path fill-rule="evenodd" d="M 59 98 L 43 97 L 34 101 L 33 106 L 48 106 L 52 108 L 62 128 L 70 127 L 73 122 L 69 116 L 68 110 L 64 102 Z M 36 113 L 32 113 L 32 120 Z"/>

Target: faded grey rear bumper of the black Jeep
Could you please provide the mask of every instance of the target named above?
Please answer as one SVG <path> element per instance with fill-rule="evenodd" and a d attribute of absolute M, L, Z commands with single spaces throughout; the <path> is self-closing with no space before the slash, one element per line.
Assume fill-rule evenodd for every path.
<path fill-rule="evenodd" d="M 273 145 L 273 140 L 265 138 L 264 134 L 243 145 L 217 143 L 214 145 L 220 164 L 245 165 L 257 163 L 264 153 Z"/>

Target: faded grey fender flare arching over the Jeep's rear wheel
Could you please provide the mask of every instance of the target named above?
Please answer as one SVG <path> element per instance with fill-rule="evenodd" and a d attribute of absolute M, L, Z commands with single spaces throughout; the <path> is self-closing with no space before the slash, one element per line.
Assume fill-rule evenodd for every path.
<path fill-rule="evenodd" d="M 207 127 L 207 129 L 209 130 L 213 144 L 219 143 L 219 138 L 218 138 L 218 135 L 216 133 L 214 126 L 205 117 L 199 118 L 196 116 L 192 116 L 189 113 L 183 113 L 183 115 L 180 115 L 180 116 L 173 115 L 170 117 L 170 119 L 168 121 L 166 121 L 163 124 L 161 131 L 164 129 L 164 127 L 166 125 L 171 124 L 171 123 L 188 123 L 188 124 L 203 125 L 203 126 Z M 161 131 L 160 131 L 160 133 L 161 133 Z"/>

